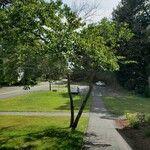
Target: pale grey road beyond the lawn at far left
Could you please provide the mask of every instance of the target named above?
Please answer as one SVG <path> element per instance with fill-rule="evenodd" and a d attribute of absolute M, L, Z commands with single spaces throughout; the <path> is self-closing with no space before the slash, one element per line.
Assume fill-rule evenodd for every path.
<path fill-rule="evenodd" d="M 41 82 L 38 85 L 31 87 L 30 90 L 24 90 L 23 86 L 3 87 L 0 88 L 0 100 L 4 100 L 5 98 L 13 96 L 23 95 L 33 91 L 43 91 L 48 89 L 49 89 L 48 82 Z"/>

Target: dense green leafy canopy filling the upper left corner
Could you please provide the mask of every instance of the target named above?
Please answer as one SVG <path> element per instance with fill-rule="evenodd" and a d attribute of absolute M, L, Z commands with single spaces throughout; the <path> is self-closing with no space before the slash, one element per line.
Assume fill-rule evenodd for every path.
<path fill-rule="evenodd" d="M 54 78 L 60 66 L 64 70 L 80 20 L 61 0 L 14 0 L 1 7 L 0 53 L 9 83 L 18 79 L 18 69 L 23 72 L 23 85 L 31 85 L 40 76 Z"/>

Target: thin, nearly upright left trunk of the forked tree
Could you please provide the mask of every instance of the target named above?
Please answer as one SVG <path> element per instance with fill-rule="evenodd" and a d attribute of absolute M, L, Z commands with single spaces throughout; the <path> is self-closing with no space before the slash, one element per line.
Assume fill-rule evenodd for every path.
<path fill-rule="evenodd" d="M 72 124 L 74 122 L 74 104 L 73 104 L 73 97 L 71 94 L 71 87 L 70 87 L 70 75 L 69 73 L 67 74 L 67 80 L 68 80 L 68 94 L 70 98 L 70 112 L 71 112 L 71 117 L 70 117 L 70 127 L 72 127 Z"/>

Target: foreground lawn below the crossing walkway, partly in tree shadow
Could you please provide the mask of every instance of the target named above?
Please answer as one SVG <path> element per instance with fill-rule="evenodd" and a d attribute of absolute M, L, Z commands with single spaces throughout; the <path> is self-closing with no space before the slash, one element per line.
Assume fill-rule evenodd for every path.
<path fill-rule="evenodd" d="M 0 116 L 0 149 L 79 150 L 87 122 L 71 131 L 69 117 Z"/>

